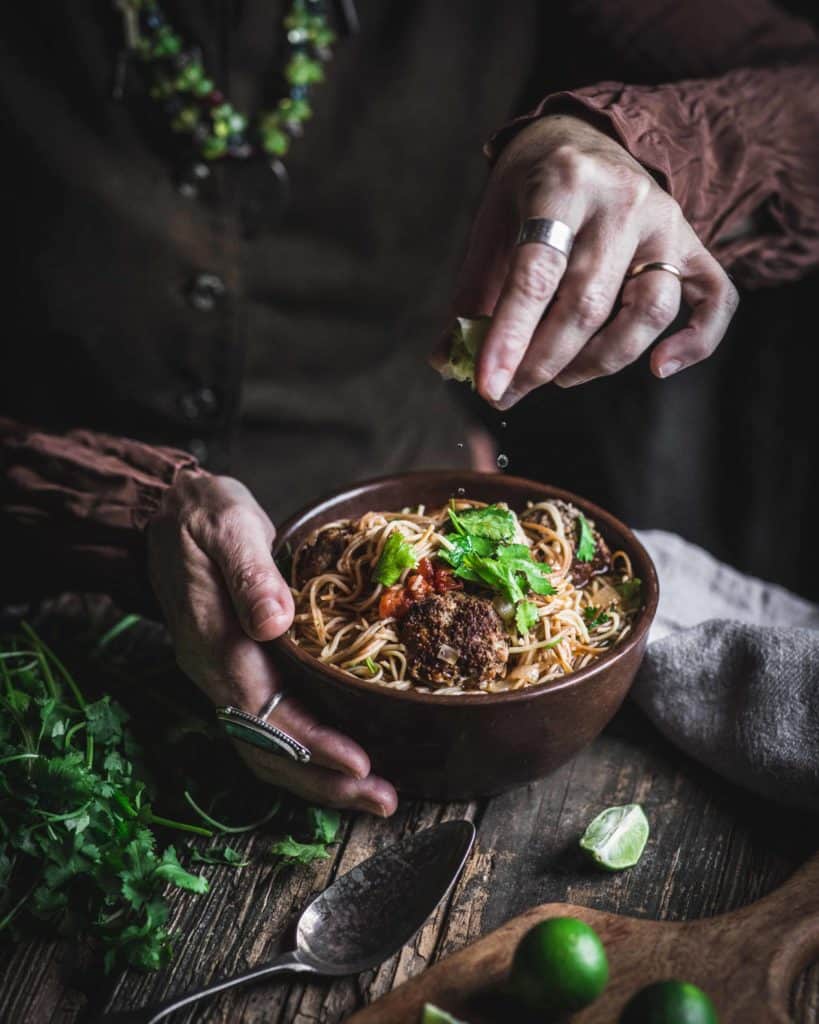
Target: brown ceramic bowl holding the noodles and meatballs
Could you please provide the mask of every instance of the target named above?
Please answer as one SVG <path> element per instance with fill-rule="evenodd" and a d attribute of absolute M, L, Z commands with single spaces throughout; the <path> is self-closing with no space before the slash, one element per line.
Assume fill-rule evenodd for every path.
<path fill-rule="evenodd" d="M 445 505 L 458 487 L 484 502 L 562 498 L 597 523 L 612 549 L 628 552 L 644 604 L 631 635 L 593 666 L 565 679 L 509 693 L 436 696 L 392 690 L 321 665 L 287 637 L 274 641 L 289 685 L 322 720 L 356 739 L 373 770 L 405 794 L 433 800 L 501 793 L 542 778 L 590 743 L 619 708 L 643 657 L 657 607 L 657 577 L 645 548 L 621 522 L 566 490 L 493 473 L 406 473 L 341 490 L 294 516 L 275 551 L 295 550 L 314 529 L 369 510 Z"/>

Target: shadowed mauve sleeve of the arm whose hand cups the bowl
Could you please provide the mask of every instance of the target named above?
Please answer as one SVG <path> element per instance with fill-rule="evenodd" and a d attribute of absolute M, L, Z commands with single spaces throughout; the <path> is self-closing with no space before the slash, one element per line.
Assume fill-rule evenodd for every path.
<path fill-rule="evenodd" d="M 4 600 L 91 591 L 155 611 L 144 527 L 177 473 L 196 466 L 175 449 L 0 419 Z"/>

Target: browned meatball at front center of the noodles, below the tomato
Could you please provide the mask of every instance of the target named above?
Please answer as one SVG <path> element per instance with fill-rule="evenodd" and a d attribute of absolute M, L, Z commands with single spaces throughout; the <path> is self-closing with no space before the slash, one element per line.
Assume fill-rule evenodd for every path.
<path fill-rule="evenodd" d="M 506 674 L 504 624 L 484 598 L 436 594 L 412 605 L 398 629 L 410 675 L 419 683 L 478 689 Z"/>

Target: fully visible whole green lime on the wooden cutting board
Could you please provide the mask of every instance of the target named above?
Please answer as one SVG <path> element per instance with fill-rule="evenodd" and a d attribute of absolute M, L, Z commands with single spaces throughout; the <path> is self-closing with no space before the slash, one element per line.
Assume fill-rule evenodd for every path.
<path fill-rule="evenodd" d="M 509 987 L 531 1010 L 557 1014 L 588 1007 L 607 981 L 608 958 L 597 932 L 576 918 L 552 918 L 521 939 Z"/>

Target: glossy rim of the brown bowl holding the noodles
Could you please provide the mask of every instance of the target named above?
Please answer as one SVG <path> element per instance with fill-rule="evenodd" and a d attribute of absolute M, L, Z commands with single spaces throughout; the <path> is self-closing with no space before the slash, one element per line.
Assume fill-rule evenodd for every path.
<path fill-rule="evenodd" d="M 519 700 L 530 700 L 532 697 L 543 693 L 556 693 L 581 686 L 587 680 L 599 676 L 602 672 L 605 672 L 612 666 L 616 665 L 617 662 L 626 658 L 643 642 L 648 630 L 651 627 L 651 623 L 654 620 L 659 600 L 659 581 L 657 580 L 656 568 L 654 566 L 653 559 L 646 550 L 645 546 L 640 542 L 637 535 L 633 529 L 631 529 L 631 527 L 627 526 L 624 522 L 612 515 L 610 512 L 601 508 L 599 505 L 596 505 L 594 502 L 591 502 L 579 495 L 575 495 L 570 490 L 565 490 L 562 487 L 556 487 L 551 483 L 543 483 L 538 480 L 532 480 L 525 476 L 510 476 L 507 473 L 481 473 L 477 470 L 442 469 L 415 470 L 405 473 L 388 473 L 383 476 L 361 480 L 351 486 L 337 488 L 330 494 L 325 495 L 322 498 L 319 498 L 317 501 L 312 502 L 310 505 L 306 505 L 294 515 L 290 516 L 276 529 L 275 542 L 272 547 L 273 557 L 275 558 L 284 545 L 288 543 L 289 534 L 304 525 L 306 521 L 320 515 L 322 511 L 332 507 L 336 503 L 355 498 L 360 494 L 378 487 L 379 485 L 387 483 L 395 484 L 404 481 L 410 482 L 414 479 L 423 479 L 424 483 L 427 485 L 436 482 L 442 483 L 447 479 L 451 479 L 454 482 L 457 481 L 456 485 L 452 487 L 454 490 L 457 486 L 462 486 L 464 483 L 470 484 L 471 486 L 480 486 L 481 483 L 486 483 L 489 480 L 495 483 L 499 482 L 499 480 L 509 481 L 514 482 L 516 485 L 523 484 L 532 486 L 536 489 L 546 487 L 555 498 L 571 502 L 572 504 L 577 505 L 584 512 L 588 512 L 590 516 L 598 522 L 598 524 L 603 524 L 605 527 L 604 531 L 619 534 L 621 540 L 624 542 L 623 547 L 626 547 L 630 553 L 636 552 L 639 556 L 641 556 L 645 567 L 648 570 L 640 578 L 643 585 L 644 600 L 643 606 L 635 620 L 632 632 L 622 641 L 622 643 L 617 644 L 616 647 L 612 647 L 610 651 L 601 655 L 600 658 L 598 658 L 598 660 L 593 665 L 589 665 L 584 669 L 578 669 L 577 672 L 572 672 L 556 681 L 537 683 L 534 686 L 526 686 L 519 690 L 502 690 L 499 693 L 486 693 L 481 691 L 476 693 L 467 692 L 436 694 L 420 693 L 418 690 L 413 689 L 393 689 L 390 686 L 384 686 L 382 683 L 373 683 L 365 679 L 357 679 L 355 676 L 344 672 L 342 669 L 335 668 L 335 666 L 325 665 L 316 657 L 313 657 L 312 654 L 300 647 L 299 644 L 291 640 L 287 634 L 284 634 L 283 636 L 271 641 L 271 644 L 274 647 L 278 648 L 287 656 L 300 663 L 305 669 L 312 672 L 318 672 L 329 680 L 332 680 L 334 683 L 349 686 L 353 690 L 358 690 L 362 693 L 383 696 L 386 699 L 430 705 L 434 707 L 455 706 L 474 708 L 489 703 L 516 703 Z"/>

